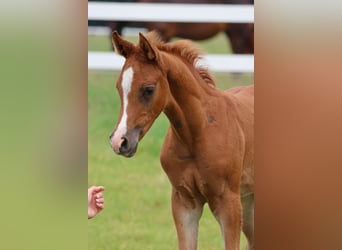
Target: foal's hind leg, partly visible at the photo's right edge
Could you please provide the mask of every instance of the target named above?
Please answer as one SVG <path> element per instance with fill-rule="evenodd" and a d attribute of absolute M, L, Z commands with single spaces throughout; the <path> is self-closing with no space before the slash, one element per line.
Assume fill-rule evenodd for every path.
<path fill-rule="evenodd" d="M 243 207 L 242 231 L 247 238 L 246 250 L 254 249 L 254 194 L 241 199 Z"/>

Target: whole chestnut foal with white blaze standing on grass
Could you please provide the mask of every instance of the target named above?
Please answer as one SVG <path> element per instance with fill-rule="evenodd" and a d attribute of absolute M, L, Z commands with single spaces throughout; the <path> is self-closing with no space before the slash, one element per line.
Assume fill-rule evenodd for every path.
<path fill-rule="evenodd" d="M 254 86 L 215 87 L 196 66 L 190 41 L 161 41 L 139 33 L 138 45 L 112 36 L 126 58 L 117 81 L 120 115 L 110 135 L 115 153 L 132 157 L 138 142 L 164 112 L 170 127 L 160 160 L 172 185 L 172 213 L 182 250 L 197 249 L 198 224 L 207 202 L 225 249 L 240 249 L 240 232 L 254 249 Z"/>

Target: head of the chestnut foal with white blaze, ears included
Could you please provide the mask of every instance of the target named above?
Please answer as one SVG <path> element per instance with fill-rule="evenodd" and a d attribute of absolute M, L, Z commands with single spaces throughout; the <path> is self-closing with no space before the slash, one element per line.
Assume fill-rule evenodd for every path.
<path fill-rule="evenodd" d="M 115 153 L 132 157 L 166 105 L 167 78 L 161 67 L 160 52 L 141 33 L 136 46 L 116 31 L 112 42 L 115 51 L 125 57 L 125 63 L 116 83 L 121 107 L 110 144 Z"/>

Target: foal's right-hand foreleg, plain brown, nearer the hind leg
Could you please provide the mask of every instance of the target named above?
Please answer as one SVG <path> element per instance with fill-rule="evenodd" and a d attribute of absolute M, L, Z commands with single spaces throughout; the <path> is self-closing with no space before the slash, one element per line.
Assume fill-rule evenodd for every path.
<path fill-rule="evenodd" d="M 209 203 L 220 224 L 225 250 L 240 249 L 242 206 L 239 193 L 225 192 Z"/>

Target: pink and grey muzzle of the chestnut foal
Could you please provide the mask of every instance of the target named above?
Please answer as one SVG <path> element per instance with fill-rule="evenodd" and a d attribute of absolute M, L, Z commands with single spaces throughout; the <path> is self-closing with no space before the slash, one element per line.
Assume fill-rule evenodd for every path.
<path fill-rule="evenodd" d="M 140 128 L 129 129 L 125 134 L 115 131 L 109 137 L 113 151 L 125 157 L 134 156 L 138 148 L 140 133 Z"/>

